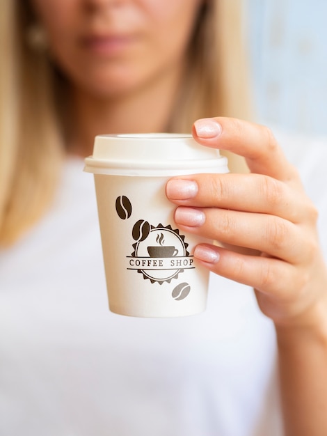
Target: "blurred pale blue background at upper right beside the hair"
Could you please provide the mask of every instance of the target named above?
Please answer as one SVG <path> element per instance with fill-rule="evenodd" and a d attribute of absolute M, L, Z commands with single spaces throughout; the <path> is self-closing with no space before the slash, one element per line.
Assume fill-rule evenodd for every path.
<path fill-rule="evenodd" d="M 327 0 L 244 0 L 259 122 L 327 135 Z"/>

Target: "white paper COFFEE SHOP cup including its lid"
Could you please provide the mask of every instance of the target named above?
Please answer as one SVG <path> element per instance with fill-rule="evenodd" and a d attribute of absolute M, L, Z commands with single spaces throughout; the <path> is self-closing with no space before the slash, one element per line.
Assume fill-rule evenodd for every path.
<path fill-rule="evenodd" d="M 210 241 L 177 228 L 166 182 L 227 173 L 227 159 L 191 135 L 120 134 L 97 136 L 85 162 L 95 176 L 110 310 L 154 318 L 204 311 L 209 272 L 193 249 Z"/>

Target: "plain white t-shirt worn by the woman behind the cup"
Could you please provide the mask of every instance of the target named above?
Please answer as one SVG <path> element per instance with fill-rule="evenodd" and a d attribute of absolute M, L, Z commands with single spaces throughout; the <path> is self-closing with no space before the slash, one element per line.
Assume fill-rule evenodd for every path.
<path fill-rule="evenodd" d="M 287 143 L 327 252 L 327 143 Z M 82 169 L 67 159 L 53 208 L 0 252 L 0 435 L 281 435 L 275 333 L 250 288 L 212 274 L 200 315 L 109 312 Z"/>

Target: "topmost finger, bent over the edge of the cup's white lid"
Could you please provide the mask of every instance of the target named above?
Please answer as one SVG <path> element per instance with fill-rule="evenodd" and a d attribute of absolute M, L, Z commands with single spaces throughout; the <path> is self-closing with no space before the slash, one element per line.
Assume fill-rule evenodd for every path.
<path fill-rule="evenodd" d="M 193 125 L 193 137 L 203 146 L 244 156 L 253 173 L 284 181 L 298 179 L 268 127 L 236 118 L 202 118 Z"/>

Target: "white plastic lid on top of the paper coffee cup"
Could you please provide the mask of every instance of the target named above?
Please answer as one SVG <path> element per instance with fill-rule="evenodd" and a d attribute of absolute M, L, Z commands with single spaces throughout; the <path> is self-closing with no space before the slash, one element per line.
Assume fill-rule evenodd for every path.
<path fill-rule="evenodd" d="M 95 137 L 84 171 L 124 176 L 226 173 L 227 159 L 189 134 L 107 134 Z"/>

